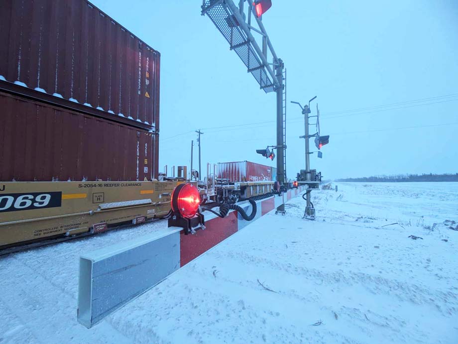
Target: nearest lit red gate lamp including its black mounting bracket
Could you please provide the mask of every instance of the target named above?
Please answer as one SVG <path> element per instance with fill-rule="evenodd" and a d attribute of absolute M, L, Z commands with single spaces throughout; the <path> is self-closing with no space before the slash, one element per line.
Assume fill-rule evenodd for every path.
<path fill-rule="evenodd" d="M 185 234 L 195 233 L 196 229 L 205 229 L 204 216 L 199 211 L 200 194 L 191 183 L 178 185 L 172 192 L 171 217 L 168 227 L 182 227 Z"/>

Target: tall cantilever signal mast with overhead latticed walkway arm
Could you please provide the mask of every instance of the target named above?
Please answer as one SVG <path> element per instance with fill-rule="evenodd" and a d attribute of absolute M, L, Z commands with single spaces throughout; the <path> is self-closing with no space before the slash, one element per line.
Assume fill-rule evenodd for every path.
<path fill-rule="evenodd" d="M 262 23 L 262 15 L 271 6 L 271 0 L 239 0 L 238 6 L 232 0 L 203 0 L 201 14 L 212 20 L 259 88 L 276 93 L 277 181 L 281 185 L 286 179 L 286 72 Z M 275 154 L 271 153 L 266 157 L 273 160 Z M 277 212 L 284 213 L 284 207 L 278 207 Z"/>

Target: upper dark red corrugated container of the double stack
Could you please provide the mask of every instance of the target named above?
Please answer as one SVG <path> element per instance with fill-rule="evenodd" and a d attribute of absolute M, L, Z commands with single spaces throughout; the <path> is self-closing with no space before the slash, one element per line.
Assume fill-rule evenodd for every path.
<path fill-rule="evenodd" d="M 159 52 L 85 0 L 0 8 L 0 80 L 159 131 Z"/>

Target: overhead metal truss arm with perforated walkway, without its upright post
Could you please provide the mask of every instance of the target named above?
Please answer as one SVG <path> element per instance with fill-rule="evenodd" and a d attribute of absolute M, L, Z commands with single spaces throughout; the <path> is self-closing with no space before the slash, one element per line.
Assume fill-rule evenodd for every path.
<path fill-rule="evenodd" d="M 281 82 L 271 68 L 271 65 L 279 64 L 279 60 L 261 19 L 253 14 L 259 29 L 251 26 L 251 15 L 253 5 L 248 1 L 248 23 L 245 22 L 243 12 L 243 0 L 239 1 L 237 7 L 232 0 L 203 0 L 202 15 L 207 14 L 213 21 L 218 30 L 229 42 L 230 50 L 234 50 L 238 57 L 245 64 L 247 71 L 250 72 L 258 82 L 260 89 L 265 93 L 274 92 L 281 87 Z M 257 44 L 251 30 L 262 35 L 262 49 Z M 268 47 L 268 49 L 267 49 Z M 267 61 L 267 53 L 270 51 L 273 64 Z"/>

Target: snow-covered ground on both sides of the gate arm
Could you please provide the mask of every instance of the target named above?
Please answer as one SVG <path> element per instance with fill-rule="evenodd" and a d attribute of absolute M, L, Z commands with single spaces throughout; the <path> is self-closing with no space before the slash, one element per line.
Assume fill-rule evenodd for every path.
<path fill-rule="evenodd" d="M 164 222 L 0 257 L 0 343 L 457 344 L 458 183 L 337 185 L 316 221 L 297 197 L 90 330 L 79 255 Z"/>

